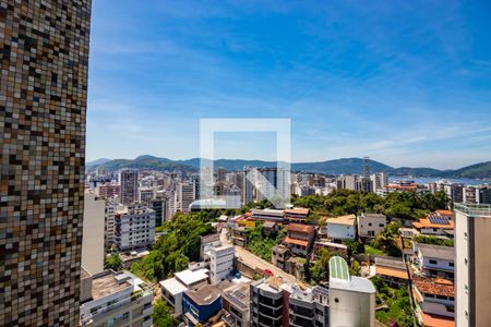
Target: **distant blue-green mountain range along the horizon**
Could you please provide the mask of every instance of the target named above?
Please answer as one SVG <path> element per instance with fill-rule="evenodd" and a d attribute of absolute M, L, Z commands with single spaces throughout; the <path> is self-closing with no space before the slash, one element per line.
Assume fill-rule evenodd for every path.
<path fill-rule="evenodd" d="M 368 160 L 371 172 L 387 172 L 391 175 L 415 175 L 415 177 L 441 177 L 441 178 L 469 178 L 490 179 L 491 161 L 480 162 L 455 170 L 439 170 L 433 168 L 394 168 L 385 164 Z M 276 161 L 242 160 L 242 159 L 218 159 L 214 161 L 214 167 L 223 167 L 229 171 L 242 170 L 244 166 L 250 167 L 275 167 Z M 121 168 L 151 169 L 170 172 L 193 172 L 200 168 L 200 158 L 188 160 L 171 160 L 154 156 L 140 156 L 135 159 L 97 159 L 86 162 L 88 170 L 104 167 L 108 170 Z M 342 158 L 320 162 L 295 162 L 291 164 L 292 171 L 315 172 L 325 174 L 361 174 L 363 172 L 363 159 Z"/>

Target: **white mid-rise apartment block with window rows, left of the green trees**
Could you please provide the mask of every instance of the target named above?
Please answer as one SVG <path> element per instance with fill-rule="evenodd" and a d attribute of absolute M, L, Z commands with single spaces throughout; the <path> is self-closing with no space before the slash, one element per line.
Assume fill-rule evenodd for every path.
<path fill-rule="evenodd" d="M 154 210 L 141 204 L 133 204 L 115 215 L 115 243 L 120 251 L 147 247 L 154 240 Z"/>

